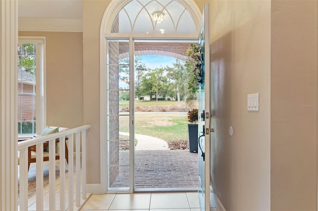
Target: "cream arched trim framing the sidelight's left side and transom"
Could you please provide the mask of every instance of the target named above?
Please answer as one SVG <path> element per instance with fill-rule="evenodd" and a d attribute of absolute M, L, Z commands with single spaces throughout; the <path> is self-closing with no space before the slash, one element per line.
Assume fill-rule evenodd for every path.
<path fill-rule="evenodd" d="M 107 137 L 107 96 L 105 95 L 105 90 L 107 88 L 107 77 L 106 77 L 106 61 L 105 58 L 107 57 L 106 51 L 106 39 L 105 35 L 111 32 L 111 27 L 115 17 L 117 16 L 118 12 L 124 5 L 126 5 L 131 0 L 112 0 L 107 8 L 104 11 L 101 24 L 100 24 L 100 32 L 99 32 L 99 45 L 100 45 L 100 53 L 99 53 L 99 74 L 100 74 L 100 185 L 101 185 L 101 193 L 106 193 L 107 191 L 107 150 L 106 150 L 106 137 Z M 194 0 L 178 0 L 178 2 L 183 5 L 190 13 L 193 18 L 195 26 L 197 26 L 197 31 L 199 32 L 200 23 L 201 23 L 201 11 L 198 5 L 194 2 Z M 181 34 L 119 34 L 119 33 L 112 33 L 112 37 L 118 36 L 123 38 L 122 36 L 130 37 L 138 37 L 138 38 L 180 38 Z M 138 35 L 138 36 L 135 36 Z M 194 38 L 198 35 L 184 35 L 186 38 Z M 188 37 L 189 36 L 189 37 Z"/>

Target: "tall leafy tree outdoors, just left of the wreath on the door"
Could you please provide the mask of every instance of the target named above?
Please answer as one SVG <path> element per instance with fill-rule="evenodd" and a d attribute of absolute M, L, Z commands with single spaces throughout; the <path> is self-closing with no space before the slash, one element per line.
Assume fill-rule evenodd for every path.
<path fill-rule="evenodd" d="M 187 97 L 187 92 L 184 87 L 187 87 L 187 71 L 184 66 L 184 62 L 179 59 L 175 60 L 175 63 L 172 64 L 173 67 L 166 67 L 167 77 L 171 80 L 173 84 L 174 91 L 177 96 L 178 105 L 180 102 L 180 95 L 183 95 L 184 100 Z"/>

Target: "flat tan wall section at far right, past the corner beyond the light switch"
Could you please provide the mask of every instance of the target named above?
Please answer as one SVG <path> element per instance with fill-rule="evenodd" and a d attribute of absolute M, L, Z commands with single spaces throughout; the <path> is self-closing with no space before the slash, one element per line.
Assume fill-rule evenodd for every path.
<path fill-rule="evenodd" d="M 317 210 L 317 1 L 271 13 L 271 210 Z"/>

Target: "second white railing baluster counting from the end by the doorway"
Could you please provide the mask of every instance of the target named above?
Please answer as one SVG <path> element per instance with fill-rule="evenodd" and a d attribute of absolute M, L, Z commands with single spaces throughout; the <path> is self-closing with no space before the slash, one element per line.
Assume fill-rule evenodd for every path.
<path fill-rule="evenodd" d="M 76 154 L 76 206 L 80 206 L 80 135 L 75 134 L 75 154 Z"/>

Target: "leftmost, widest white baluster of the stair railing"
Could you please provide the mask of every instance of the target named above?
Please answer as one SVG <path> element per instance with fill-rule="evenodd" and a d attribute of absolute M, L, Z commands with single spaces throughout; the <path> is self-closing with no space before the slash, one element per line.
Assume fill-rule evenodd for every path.
<path fill-rule="evenodd" d="M 28 148 L 20 150 L 20 211 L 28 210 Z"/>

